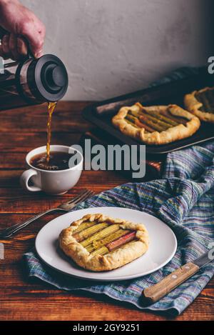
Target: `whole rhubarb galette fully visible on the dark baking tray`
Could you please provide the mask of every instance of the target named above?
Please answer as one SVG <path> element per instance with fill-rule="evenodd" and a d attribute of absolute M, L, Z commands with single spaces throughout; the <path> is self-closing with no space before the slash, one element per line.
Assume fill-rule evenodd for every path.
<path fill-rule="evenodd" d="M 112 123 L 123 134 L 146 144 L 167 144 L 185 139 L 200 127 L 197 116 L 177 105 L 144 107 L 139 102 L 122 107 Z"/>

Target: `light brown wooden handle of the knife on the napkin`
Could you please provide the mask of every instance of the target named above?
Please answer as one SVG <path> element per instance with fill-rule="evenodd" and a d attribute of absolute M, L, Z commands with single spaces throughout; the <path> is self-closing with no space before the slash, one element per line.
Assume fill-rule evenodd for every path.
<path fill-rule="evenodd" d="M 186 279 L 190 278 L 199 269 L 198 265 L 191 262 L 181 266 L 171 274 L 166 276 L 163 280 L 159 281 L 158 284 L 147 287 L 143 290 L 143 300 L 148 304 L 154 304 L 168 294 L 170 291 L 175 289 L 178 285 L 183 283 Z"/>

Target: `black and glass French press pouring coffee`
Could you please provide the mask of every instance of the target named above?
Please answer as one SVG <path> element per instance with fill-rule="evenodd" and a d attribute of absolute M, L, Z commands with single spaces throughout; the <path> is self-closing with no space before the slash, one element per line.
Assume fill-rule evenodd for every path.
<path fill-rule="evenodd" d="M 3 36 L 1 31 L 0 35 Z M 6 63 L 0 69 L 0 111 L 58 101 L 67 88 L 66 67 L 54 55 L 39 59 L 28 56 L 21 62 Z"/>

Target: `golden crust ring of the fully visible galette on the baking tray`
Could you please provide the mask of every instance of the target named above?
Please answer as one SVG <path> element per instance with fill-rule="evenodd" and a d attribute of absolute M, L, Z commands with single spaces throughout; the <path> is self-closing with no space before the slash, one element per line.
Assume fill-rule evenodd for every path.
<path fill-rule="evenodd" d="M 128 111 L 142 112 L 143 110 L 156 112 L 165 112 L 167 111 L 171 116 L 182 117 L 186 119 L 186 124 L 178 124 L 178 126 L 171 126 L 170 128 L 163 131 L 153 131 L 148 132 L 144 128 L 133 126 L 128 123 L 125 119 Z M 170 104 L 168 106 L 148 106 L 144 107 L 140 103 L 136 103 L 133 106 L 124 106 L 122 107 L 116 116 L 113 116 L 112 123 L 116 126 L 123 134 L 133 137 L 143 141 L 146 144 L 167 144 L 179 139 L 185 139 L 186 137 L 192 136 L 195 131 L 200 127 L 200 120 L 197 116 L 185 111 L 181 107 Z"/>

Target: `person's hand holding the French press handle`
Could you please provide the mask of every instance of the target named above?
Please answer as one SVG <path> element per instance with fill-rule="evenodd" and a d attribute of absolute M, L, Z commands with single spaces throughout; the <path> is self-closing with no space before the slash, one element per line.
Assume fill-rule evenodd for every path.
<path fill-rule="evenodd" d="M 45 26 L 18 0 L 0 0 L 0 26 L 8 31 L 0 45 L 0 56 L 4 59 L 22 59 L 28 54 L 27 44 L 36 58 L 42 56 Z"/>

